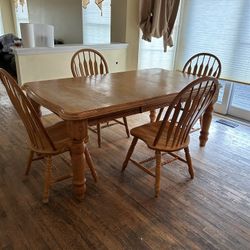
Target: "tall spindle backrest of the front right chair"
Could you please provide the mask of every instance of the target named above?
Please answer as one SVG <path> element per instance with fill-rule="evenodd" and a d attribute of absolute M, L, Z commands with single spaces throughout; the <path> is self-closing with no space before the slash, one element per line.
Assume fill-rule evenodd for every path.
<path fill-rule="evenodd" d="M 178 147 L 186 141 L 196 121 L 208 105 L 215 101 L 218 80 L 214 77 L 201 77 L 188 84 L 168 106 L 164 119 L 154 140 L 156 146 L 163 131 L 168 126 L 166 145 Z"/>

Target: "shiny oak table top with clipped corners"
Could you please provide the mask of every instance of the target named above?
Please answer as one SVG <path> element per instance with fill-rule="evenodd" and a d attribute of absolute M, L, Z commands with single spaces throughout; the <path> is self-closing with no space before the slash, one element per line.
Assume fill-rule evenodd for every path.
<path fill-rule="evenodd" d="M 164 69 L 24 84 L 28 96 L 65 120 L 81 120 L 172 100 L 196 76 Z"/>

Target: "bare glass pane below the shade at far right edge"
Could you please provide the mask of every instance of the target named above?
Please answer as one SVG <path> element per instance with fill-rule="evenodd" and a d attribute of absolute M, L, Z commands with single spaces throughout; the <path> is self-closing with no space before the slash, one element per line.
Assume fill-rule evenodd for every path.
<path fill-rule="evenodd" d="M 245 84 L 234 84 L 231 105 L 250 111 L 250 86 Z"/>

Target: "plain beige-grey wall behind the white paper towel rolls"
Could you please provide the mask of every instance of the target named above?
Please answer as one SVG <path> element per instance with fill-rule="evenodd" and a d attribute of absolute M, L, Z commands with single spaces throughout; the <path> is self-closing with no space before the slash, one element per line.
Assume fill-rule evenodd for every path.
<path fill-rule="evenodd" d="M 55 39 L 66 44 L 82 43 L 81 0 L 28 0 L 31 23 L 51 24 Z"/>

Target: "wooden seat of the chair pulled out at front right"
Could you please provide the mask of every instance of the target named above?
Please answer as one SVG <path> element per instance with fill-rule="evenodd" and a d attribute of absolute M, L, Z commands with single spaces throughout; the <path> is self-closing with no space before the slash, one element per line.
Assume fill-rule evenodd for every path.
<path fill-rule="evenodd" d="M 174 139 L 175 128 L 177 126 L 175 126 L 175 128 L 173 129 L 173 133 L 171 135 L 171 138 L 168 141 L 168 143 L 166 144 L 167 131 L 168 131 L 170 123 L 167 123 L 159 142 L 157 143 L 156 146 L 154 146 L 155 136 L 156 136 L 157 132 L 159 131 L 161 124 L 162 124 L 161 121 L 154 122 L 154 123 L 147 123 L 147 124 L 144 124 L 142 126 L 138 126 L 138 127 L 131 129 L 130 133 L 131 133 L 131 135 L 144 141 L 147 144 L 147 146 L 153 150 L 174 152 L 174 151 L 183 149 L 183 148 L 188 146 L 189 136 L 187 137 L 187 139 L 183 143 L 181 143 L 179 145 L 174 145 L 174 146 L 172 145 L 172 142 Z"/>

